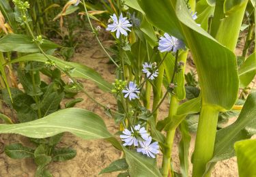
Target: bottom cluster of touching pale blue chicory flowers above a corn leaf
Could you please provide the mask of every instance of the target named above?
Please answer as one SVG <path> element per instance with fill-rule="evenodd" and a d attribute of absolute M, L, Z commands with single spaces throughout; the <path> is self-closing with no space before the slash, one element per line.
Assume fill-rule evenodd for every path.
<path fill-rule="evenodd" d="M 121 140 L 124 142 L 124 146 L 134 146 L 137 148 L 137 152 L 147 155 L 147 157 L 156 158 L 159 153 L 158 142 L 152 142 L 152 137 L 147 133 L 145 127 L 136 125 L 131 129 L 124 129 L 124 134 L 120 135 Z"/>

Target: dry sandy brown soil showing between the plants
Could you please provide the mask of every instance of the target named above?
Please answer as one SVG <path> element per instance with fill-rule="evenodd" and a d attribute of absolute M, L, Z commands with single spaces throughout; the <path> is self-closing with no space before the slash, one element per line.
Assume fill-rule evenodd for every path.
<path fill-rule="evenodd" d="M 91 41 L 93 39 L 89 39 Z M 95 42 L 93 42 L 95 44 Z M 109 45 L 108 41 L 104 42 L 104 45 Z M 104 54 L 101 52 L 100 48 L 96 45 L 94 48 L 90 48 L 88 46 L 94 45 L 85 45 L 81 46 L 76 54 L 74 55 L 74 59 L 72 61 L 83 63 L 89 67 L 92 67 L 98 71 L 103 78 L 108 80 L 109 82 L 113 82 L 115 79 L 114 68 L 112 65 L 108 65 L 108 59 L 104 57 Z M 111 107 L 115 107 L 115 99 L 109 93 L 104 93 L 100 91 L 93 83 L 87 80 L 79 80 L 83 83 L 87 91 L 98 101 L 107 104 L 109 103 Z M 111 133 L 115 133 L 118 131 L 118 126 L 115 125 L 114 121 L 108 118 L 98 106 L 92 103 L 85 95 L 79 93 L 76 97 L 82 97 L 84 99 L 83 102 L 78 103 L 76 107 L 84 108 L 87 110 L 91 110 L 102 116 L 104 122 L 106 123 L 106 127 L 108 127 Z M 167 115 L 167 101 L 160 108 L 160 118 L 165 118 Z M 72 117 L 70 117 L 72 120 Z M 178 158 L 178 150 L 177 144 L 179 141 L 180 135 L 176 133 L 175 135 L 175 144 L 173 148 L 173 161 L 174 167 L 178 170 L 179 166 L 179 158 Z M 36 166 L 33 163 L 32 159 L 23 159 L 23 160 L 14 160 L 10 159 L 3 152 L 3 147 L 5 144 L 21 142 L 25 145 L 31 145 L 27 138 L 22 137 L 20 135 L 0 135 L 1 146 L 0 146 L 0 176 L 1 177 L 27 177 L 34 176 Z M 192 141 L 190 146 L 190 155 L 193 152 L 195 143 L 195 135 L 192 135 Z M 61 140 L 59 146 L 70 146 L 77 151 L 77 155 L 74 159 L 66 162 L 55 162 L 49 165 L 49 170 L 52 172 L 55 177 L 68 177 L 68 176 L 99 176 L 98 173 L 100 170 L 104 169 L 111 161 L 118 159 L 121 153 L 118 150 L 115 150 L 111 146 L 111 144 L 104 142 L 102 140 L 94 140 L 94 141 L 85 141 L 81 138 L 76 138 L 74 135 L 70 133 L 66 133 L 66 135 Z M 161 164 L 161 155 L 158 158 L 158 165 Z M 190 165 L 190 172 L 191 172 Z M 118 173 L 113 174 L 104 174 L 100 176 L 117 176 Z M 216 164 L 212 172 L 212 176 L 216 177 L 226 177 L 226 176 L 238 176 L 238 168 L 236 164 L 236 158 L 232 158 L 226 161 L 221 161 Z"/>

